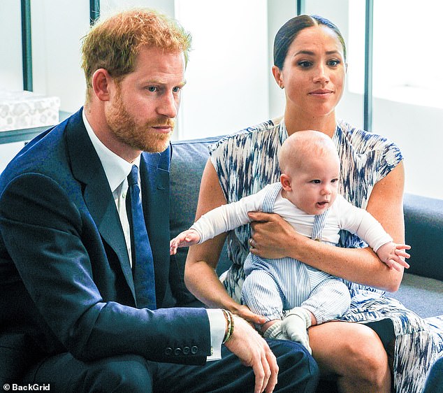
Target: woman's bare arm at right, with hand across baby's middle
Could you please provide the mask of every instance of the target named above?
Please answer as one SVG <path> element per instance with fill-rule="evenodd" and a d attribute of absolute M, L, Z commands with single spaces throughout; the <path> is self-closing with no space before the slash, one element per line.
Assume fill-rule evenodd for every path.
<path fill-rule="evenodd" d="M 405 242 L 403 220 L 404 168 L 402 162 L 375 184 L 367 210 L 391 234 L 395 243 Z M 370 248 L 338 248 L 297 234 L 278 215 L 249 213 L 256 221 L 254 249 L 256 255 L 268 258 L 289 256 L 356 283 L 395 292 L 402 280 L 402 271 L 389 269 Z"/>

